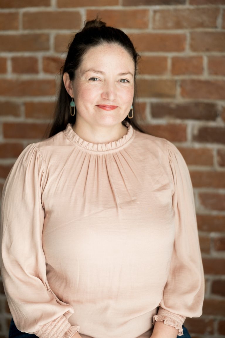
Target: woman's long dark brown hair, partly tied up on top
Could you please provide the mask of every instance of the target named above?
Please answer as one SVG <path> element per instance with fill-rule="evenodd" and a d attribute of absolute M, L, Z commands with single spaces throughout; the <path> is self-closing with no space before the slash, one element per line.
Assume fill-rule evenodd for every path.
<path fill-rule="evenodd" d="M 59 95 L 49 137 L 57 134 L 61 130 L 64 130 L 68 123 L 74 124 L 76 121 L 76 108 L 75 115 L 71 116 L 70 114 L 71 97 L 64 87 L 63 74 L 67 72 L 70 80 L 73 81 L 75 71 L 80 66 L 88 49 L 104 43 L 113 43 L 122 46 L 131 55 L 134 61 L 136 74 L 139 54 L 136 52 L 129 37 L 122 30 L 106 26 L 106 23 L 99 19 L 87 21 L 83 29 L 75 35 L 73 41 L 68 45 L 68 54 L 66 56 L 64 66 L 61 69 L 62 76 Z M 124 124 L 125 121 L 128 121 L 135 129 L 142 131 L 135 120 L 135 114 L 133 119 L 126 117 L 122 123 Z"/>

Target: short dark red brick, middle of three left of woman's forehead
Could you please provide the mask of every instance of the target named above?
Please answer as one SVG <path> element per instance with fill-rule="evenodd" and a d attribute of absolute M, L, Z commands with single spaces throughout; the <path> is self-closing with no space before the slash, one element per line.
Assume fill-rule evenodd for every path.
<path fill-rule="evenodd" d="M 38 73 L 38 60 L 32 56 L 12 57 L 12 72 L 18 74 Z"/>

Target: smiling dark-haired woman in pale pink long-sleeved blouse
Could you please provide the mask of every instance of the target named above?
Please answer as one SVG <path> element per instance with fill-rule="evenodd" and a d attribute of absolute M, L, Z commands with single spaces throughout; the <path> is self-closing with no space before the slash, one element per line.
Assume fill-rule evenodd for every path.
<path fill-rule="evenodd" d="M 175 338 L 201 315 L 188 169 L 132 120 L 137 60 L 125 33 L 87 22 L 69 46 L 51 138 L 6 180 L 1 269 L 21 332 Z"/>

